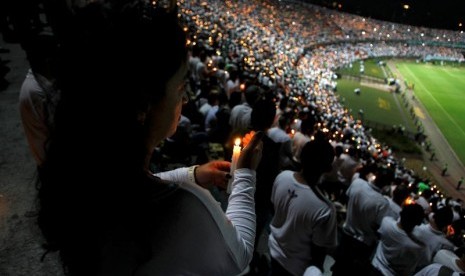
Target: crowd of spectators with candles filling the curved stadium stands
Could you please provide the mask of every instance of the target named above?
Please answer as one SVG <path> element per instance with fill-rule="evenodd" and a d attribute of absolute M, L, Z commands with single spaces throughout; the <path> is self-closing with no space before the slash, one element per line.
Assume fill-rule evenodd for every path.
<path fill-rule="evenodd" d="M 178 17 L 188 35 L 189 101 L 153 170 L 230 160 L 234 138 L 266 132 L 247 273 L 271 266 L 272 275 L 317 275 L 326 256 L 334 275 L 410 275 L 433 263 L 465 272 L 464 263 L 447 265 L 465 255 L 462 202 L 405 167 L 335 93 L 335 70 L 357 60 L 464 62 L 463 32 L 283 0 L 181 0 Z M 225 208 L 226 191 L 213 189 Z M 261 235 L 270 245 L 265 268 Z"/>

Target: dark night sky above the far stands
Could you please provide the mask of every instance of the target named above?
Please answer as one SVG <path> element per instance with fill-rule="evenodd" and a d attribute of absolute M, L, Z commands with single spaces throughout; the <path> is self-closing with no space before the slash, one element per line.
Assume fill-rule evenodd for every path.
<path fill-rule="evenodd" d="M 465 0 L 305 0 L 358 15 L 403 24 L 465 30 Z M 341 4 L 341 8 L 338 7 Z M 404 5 L 409 8 L 405 9 Z M 462 23 L 462 26 L 459 26 Z"/>

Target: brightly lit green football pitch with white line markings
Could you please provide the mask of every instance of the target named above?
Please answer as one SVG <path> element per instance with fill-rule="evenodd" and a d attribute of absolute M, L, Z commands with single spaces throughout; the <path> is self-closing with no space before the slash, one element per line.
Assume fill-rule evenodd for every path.
<path fill-rule="evenodd" d="M 465 164 L 465 68 L 414 62 L 396 66 Z"/>

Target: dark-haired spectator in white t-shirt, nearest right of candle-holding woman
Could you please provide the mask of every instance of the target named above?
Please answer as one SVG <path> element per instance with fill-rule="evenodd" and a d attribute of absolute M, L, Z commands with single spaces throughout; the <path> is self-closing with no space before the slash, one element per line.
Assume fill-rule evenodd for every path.
<path fill-rule="evenodd" d="M 317 186 L 331 170 L 334 149 L 321 135 L 305 144 L 299 172 L 283 171 L 273 184 L 275 214 L 268 240 L 271 275 L 303 275 L 306 268 L 324 270 L 326 254 L 337 245 L 336 209 Z"/>

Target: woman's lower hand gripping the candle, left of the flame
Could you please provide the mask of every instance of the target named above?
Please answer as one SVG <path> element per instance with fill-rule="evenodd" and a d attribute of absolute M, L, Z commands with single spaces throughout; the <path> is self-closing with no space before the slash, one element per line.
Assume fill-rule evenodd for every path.
<path fill-rule="evenodd" d="M 231 178 L 229 170 L 231 163 L 228 161 L 211 161 L 200 165 L 195 169 L 195 182 L 205 189 L 213 186 L 226 189 Z"/>

